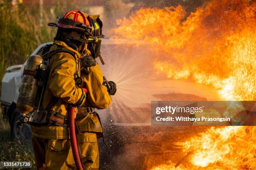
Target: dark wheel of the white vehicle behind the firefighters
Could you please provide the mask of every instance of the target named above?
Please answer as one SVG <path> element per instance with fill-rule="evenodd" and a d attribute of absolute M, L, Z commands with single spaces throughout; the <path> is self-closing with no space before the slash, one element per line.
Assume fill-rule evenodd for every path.
<path fill-rule="evenodd" d="M 23 126 L 17 125 L 17 120 L 20 117 L 20 111 L 18 108 L 16 108 L 13 111 L 13 116 L 11 120 L 11 125 L 10 125 L 10 130 L 11 130 L 11 139 L 13 141 L 18 141 L 24 145 L 31 145 L 31 138 L 32 138 L 32 133 L 31 133 L 31 128 L 30 125 L 27 123 L 24 123 Z"/>

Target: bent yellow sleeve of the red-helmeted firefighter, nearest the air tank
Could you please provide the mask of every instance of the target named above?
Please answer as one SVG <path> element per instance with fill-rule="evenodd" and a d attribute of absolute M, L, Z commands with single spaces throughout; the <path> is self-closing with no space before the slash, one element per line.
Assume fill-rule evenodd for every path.
<path fill-rule="evenodd" d="M 49 82 L 49 90 L 55 97 L 61 98 L 64 102 L 82 105 L 85 101 L 85 93 L 82 88 L 76 86 L 74 81 L 77 67 L 74 57 L 67 53 L 65 55 L 59 54 L 54 57 L 52 65 L 54 71 Z"/>

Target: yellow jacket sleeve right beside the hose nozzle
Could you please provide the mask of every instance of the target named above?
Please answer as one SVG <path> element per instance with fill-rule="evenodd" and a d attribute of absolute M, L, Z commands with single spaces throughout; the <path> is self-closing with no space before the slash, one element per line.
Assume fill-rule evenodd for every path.
<path fill-rule="evenodd" d="M 108 108 L 111 103 L 111 97 L 108 94 L 107 87 L 103 84 L 103 75 L 100 66 L 97 64 L 88 67 L 89 75 L 83 77 L 87 92 L 87 101 L 85 105 L 96 107 L 97 109 Z"/>

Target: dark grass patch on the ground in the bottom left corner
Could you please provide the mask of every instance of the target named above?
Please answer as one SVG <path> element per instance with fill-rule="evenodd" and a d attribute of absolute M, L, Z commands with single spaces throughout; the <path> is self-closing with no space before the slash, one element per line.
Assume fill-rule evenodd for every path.
<path fill-rule="evenodd" d="M 36 169 L 33 149 L 22 145 L 20 141 L 12 142 L 9 123 L 3 120 L 0 112 L 0 161 L 31 161 L 32 168 Z M 16 168 L 20 169 L 20 168 Z"/>

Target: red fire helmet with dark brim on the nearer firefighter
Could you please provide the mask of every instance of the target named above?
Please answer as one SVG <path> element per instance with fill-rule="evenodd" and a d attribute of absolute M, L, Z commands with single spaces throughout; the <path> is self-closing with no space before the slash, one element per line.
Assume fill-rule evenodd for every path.
<path fill-rule="evenodd" d="M 92 20 L 90 16 L 79 10 L 71 10 L 62 15 L 58 23 L 48 23 L 49 26 L 73 29 L 79 32 L 87 32 L 92 35 Z"/>

